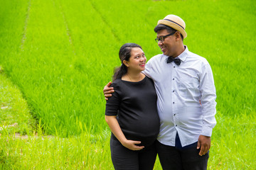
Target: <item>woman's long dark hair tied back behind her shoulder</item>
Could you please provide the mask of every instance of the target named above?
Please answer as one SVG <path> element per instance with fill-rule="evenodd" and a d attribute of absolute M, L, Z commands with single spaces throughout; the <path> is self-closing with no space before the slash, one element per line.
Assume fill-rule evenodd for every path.
<path fill-rule="evenodd" d="M 121 79 L 121 77 L 124 74 L 127 74 L 127 67 L 126 65 L 123 64 L 123 61 L 129 61 L 129 58 L 131 57 L 131 51 L 133 47 L 139 47 L 140 49 L 142 49 L 142 47 L 140 45 L 137 45 L 135 43 L 125 43 L 124 45 L 122 45 L 122 47 L 120 47 L 119 50 L 119 59 L 122 62 L 121 67 L 117 67 L 114 69 L 114 75 L 113 75 L 113 80 L 115 79 Z"/>

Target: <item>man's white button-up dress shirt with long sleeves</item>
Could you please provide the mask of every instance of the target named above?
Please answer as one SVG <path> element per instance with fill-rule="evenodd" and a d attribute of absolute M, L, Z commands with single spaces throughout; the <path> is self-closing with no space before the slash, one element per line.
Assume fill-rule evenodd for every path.
<path fill-rule="evenodd" d="M 186 46 L 184 46 L 186 47 Z M 168 56 L 156 55 L 146 63 L 144 74 L 154 80 L 160 132 L 157 140 L 175 146 L 176 132 L 182 147 L 210 137 L 216 124 L 216 93 L 210 64 L 188 51 L 178 58 L 181 64 L 166 63 Z M 201 103 L 200 103 L 201 101 Z"/>

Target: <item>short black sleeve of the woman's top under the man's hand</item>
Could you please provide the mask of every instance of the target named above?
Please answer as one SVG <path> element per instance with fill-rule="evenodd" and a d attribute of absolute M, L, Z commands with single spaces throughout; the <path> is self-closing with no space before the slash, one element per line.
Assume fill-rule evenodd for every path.
<path fill-rule="evenodd" d="M 112 96 L 107 100 L 105 115 L 117 115 L 119 110 L 119 86 L 115 83 L 112 83 L 111 86 L 114 87 L 114 93 L 112 93 Z"/>

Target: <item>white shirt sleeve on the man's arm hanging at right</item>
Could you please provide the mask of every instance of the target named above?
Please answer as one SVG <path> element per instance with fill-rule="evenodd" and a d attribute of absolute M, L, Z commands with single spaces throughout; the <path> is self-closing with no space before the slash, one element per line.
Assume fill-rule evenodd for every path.
<path fill-rule="evenodd" d="M 213 72 L 210 64 L 203 65 L 199 89 L 201 91 L 201 104 L 203 113 L 203 129 L 201 135 L 210 137 L 216 125 L 216 91 L 213 80 Z"/>

